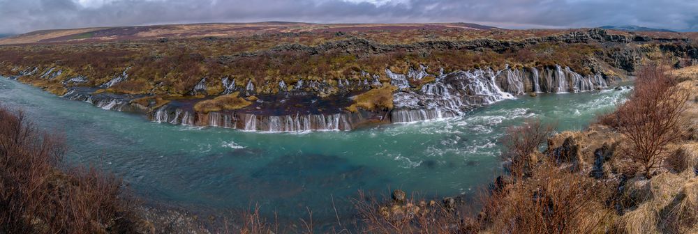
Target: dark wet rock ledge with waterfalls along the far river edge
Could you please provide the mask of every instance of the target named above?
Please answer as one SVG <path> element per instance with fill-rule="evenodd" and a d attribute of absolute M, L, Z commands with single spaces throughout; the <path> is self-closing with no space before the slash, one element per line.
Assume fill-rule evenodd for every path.
<path fill-rule="evenodd" d="M 36 68 L 22 70 L 31 74 Z M 197 113 L 196 102 L 206 98 L 171 100 L 165 104 L 144 105 L 133 102 L 148 95 L 121 95 L 100 93 L 98 88 L 75 86 L 87 81 L 77 76 L 66 79 L 62 84 L 68 89 L 64 95 L 71 100 L 89 102 L 102 109 L 144 113 L 158 123 L 175 125 L 197 125 L 226 127 L 245 131 L 261 132 L 306 132 L 346 131 L 373 123 L 406 123 L 422 120 L 453 118 L 462 116 L 476 107 L 493 104 L 501 100 L 516 98 L 526 93 L 567 93 L 593 91 L 607 88 L 616 77 L 603 74 L 579 75 L 570 68 L 560 65 L 542 68 L 505 68 L 503 70 L 479 69 L 430 74 L 421 66 L 407 74 L 389 69 L 385 77 L 400 91 L 394 93 L 394 109 L 391 111 L 347 111 L 352 104 L 352 92 L 380 87 L 380 75 L 362 73 L 364 79 L 350 81 L 340 79 L 336 86 L 327 81 L 304 81 L 296 84 L 279 82 L 281 93 L 257 95 L 250 107 L 235 111 Z M 128 69 L 114 77 L 102 88 L 107 88 L 128 79 Z M 52 71 L 45 72 L 51 74 Z M 207 93 L 207 79 L 202 78 L 192 94 Z M 70 84 L 70 85 L 67 85 Z M 415 86 L 419 84 L 419 86 Z M 221 79 L 221 93 L 242 91 L 255 95 L 255 86 L 247 81 L 244 88 L 236 86 L 234 79 Z M 307 92 L 315 91 L 318 95 Z"/>

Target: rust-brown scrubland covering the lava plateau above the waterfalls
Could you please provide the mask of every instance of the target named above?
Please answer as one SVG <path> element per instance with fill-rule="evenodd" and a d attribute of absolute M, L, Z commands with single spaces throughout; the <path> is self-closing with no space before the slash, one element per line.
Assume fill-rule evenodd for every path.
<path fill-rule="evenodd" d="M 584 33 L 588 31 L 426 28 L 8 45 L 0 47 L 0 74 L 17 75 L 20 71 L 37 68 L 20 80 L 62 94 L 65 88 L 61 82 L 67 79 L 87 77 L 84 83 L 68 82 L 65 86 L 101 86 L 128 69 L 128 79 L 105 91 L 189 95 L 193 87 L 206 78 L 205 94 L 218 95 L 223 91 L 221 80 L 224 77 L 235 80 L 239 88 L 251 82 L 255 93 L 278 93 L 280 81 L 288 87 L 297 86 L 300 80 L 326 81 L 336 86 L 340 79 L 366 79 L 364 72 L 369 72 L 379 75 L 380 81 L 385 82 L 388 81 L 386 68 L 405 74 L 409 68 L 419 68 L 419 65 L 426 65 L 427 72 L 438 74 L 440 68 L 451 72 L 504 68 L 507 64 L 539 68 L 559 64 L 586 75 L 602 72 L 593 69 L 626 69 L 628 66 L 627 69 L 632 69 L 636 55 L 628 57 L 628 51 L 639 53 L 640 57 L 652 55 L 650 59 L 688 56 L 685 52 L 670 50 L 688 45 L 681 40 L 671 47 L 662 46 L 664 42 L 658 41 L 645 42 L 639 48 L 634 43 L 624 44 L 628 50 L 624 51 L 618 45 L 570 39 Z M 631 37 L 625 32 L 609 32 L 607 36 Z M 61 70 L 61 74 L 42 77 L 51 68 Z M 322 95 L 338 90 L 335 87 L 331 93 Z M 304 91 L 318 93 L 316 88 L 307 86 Z"/>

